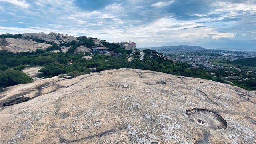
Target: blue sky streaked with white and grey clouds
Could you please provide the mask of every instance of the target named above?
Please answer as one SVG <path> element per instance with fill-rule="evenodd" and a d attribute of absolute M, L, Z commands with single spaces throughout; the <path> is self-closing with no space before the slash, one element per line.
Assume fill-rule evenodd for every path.
<path fill-rule="evenodd" d="M 0 34 L 256 49 L 256 0 L 0 0 Z"/>

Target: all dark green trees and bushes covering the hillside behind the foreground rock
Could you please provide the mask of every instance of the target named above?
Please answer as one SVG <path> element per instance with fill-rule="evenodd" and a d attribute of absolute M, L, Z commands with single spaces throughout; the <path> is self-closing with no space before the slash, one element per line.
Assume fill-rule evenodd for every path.
<path fill-rule="evenodd" d="M 2 38 L 18 38 L 20 34 L 4 34 L 0 36 L 2 36 Z M 32 79 L 21 71 L 27 66 L 44 66 L 44 68 L 40 69 L 42 74 L 38 76 L 44 78 L 50 78 L 58 75 L 62 75 L 60 77 L 63 77 L 63 74 L 68 74 L 72 77 L 81 74 L 88 74 L 90 72 L 90 68 L 96 68 L 97 71 L 117 68 L 132 68 L 228 83 L 222 79 L 225 76 L 229 76 L 225 70 L 209 71 L 201 68 L 188 68 L 188 64 L 174 63 L 171 60 L 165 60 L 158 56 L 160 55 L 159 52 L 150 49 L 144 50 L 144 59 L 139 60 L 140 52 L 138 50 L 133 53 L 132 50 L 124 50 L 124 48 L 118 47 L 118 45 L 104 41 L 102 44 L 109 48 L 109 50 L 116 53 L 122 53 L 123 55 L 112 57 L 108 55 L 95 54 L 90 60 L 82 59 L 84 54 L 74 54 L 74 51 L 79 46 L 93 48 L 95 46 L 92 42 L 94 38 L 88 39 L 85 36 L 80 36 L 77 39 L 78 40 L 73 40 L 72 42 L 61 43 L 60 46 L 52 45 L 46 50 L 36 50 L 35 52 L 20 52 L 15 54 L 12 52 L 0 51 L 0 88 L 32 82 Z M 44 42 L 42 40 L 37 41 Z M 66 54 L 62 52 L 50 52 L 52 50 L 60 50 L 61 46 L 70 47 Z M 90 53 L 87 54 L 91 55 Z M 134 60 L 128 62 L 128 56 L 132 56 Z M 238 62 L 240 61 L 236 61 L 236 63 Z M 216 73 L 216 75 L 212 75 L 210 73 Z M 239 72 L 234 71 L 233 73 L 238 74 Z M 240 86 L 247 90 L 256 90 L 255 79 L 253 79 L 256 78 L 256 76 L 245 73 L 239 74 L 242 74 L 242 78 L 250 78 L 250 80 L 234 81 L 234 86 Z"/>

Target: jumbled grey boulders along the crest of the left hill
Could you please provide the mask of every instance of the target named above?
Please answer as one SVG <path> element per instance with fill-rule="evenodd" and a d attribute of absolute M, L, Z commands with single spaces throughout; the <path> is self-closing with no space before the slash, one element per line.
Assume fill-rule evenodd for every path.
<path fill-rule="evenodd" d="M 61 42 L 68 43 L 73 40 L 76 40 L 76 38 L 74 36 L 68 36 L 67 34 L 63 35 L 63 34 L 59 34 L 59 33 L 57 34 L 55 32 L 51 32 L 50 34 L 45 34 L 43 32 L 41 32 L 41 33 L 25 33 L 22 35 L 23 35 L 22 36 L 23 38 L 30 38 L 33 40 L 41 39 L 41 40 L 52 42 L 53 44 L 57 44 L 57 45 L 60 45 Z"/>

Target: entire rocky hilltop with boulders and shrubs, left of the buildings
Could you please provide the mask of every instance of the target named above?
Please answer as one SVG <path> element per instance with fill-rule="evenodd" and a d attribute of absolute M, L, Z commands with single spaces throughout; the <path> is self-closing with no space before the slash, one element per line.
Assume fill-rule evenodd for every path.
<path fill-rule="evenodd" d="M 108 46 L 108 42 L 98 38 L 87 38 L 86 36 L 76 38 L 74 36 L 68 36 L 67 34 L 64 35 L 55 32 L 50 32 L 49 34 L 41 32 L 0 35 L 0 50 L 7 50 L 8 52 L 14 53 L 34 52 L 38 49 L 53 52 L 62 51 L 63 53 L 66 53 L 70 48 L 72 49 L 72 52 L 80 52 L 81 50 L 83 52 L 91 52 L 92 50 L 89 49 L 95 46 L 104 46 L 103 44 Z"/>

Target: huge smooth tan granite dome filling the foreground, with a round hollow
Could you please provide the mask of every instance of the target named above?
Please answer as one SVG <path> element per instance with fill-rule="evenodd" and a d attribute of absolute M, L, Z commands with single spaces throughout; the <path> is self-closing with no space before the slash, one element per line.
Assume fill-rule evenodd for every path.
<path fill-rule="evenodd" d="M 254 144 L 255 106 L 242 88 L 160 72 L 56 76 L 0 92 L 0 143 Z"/>

